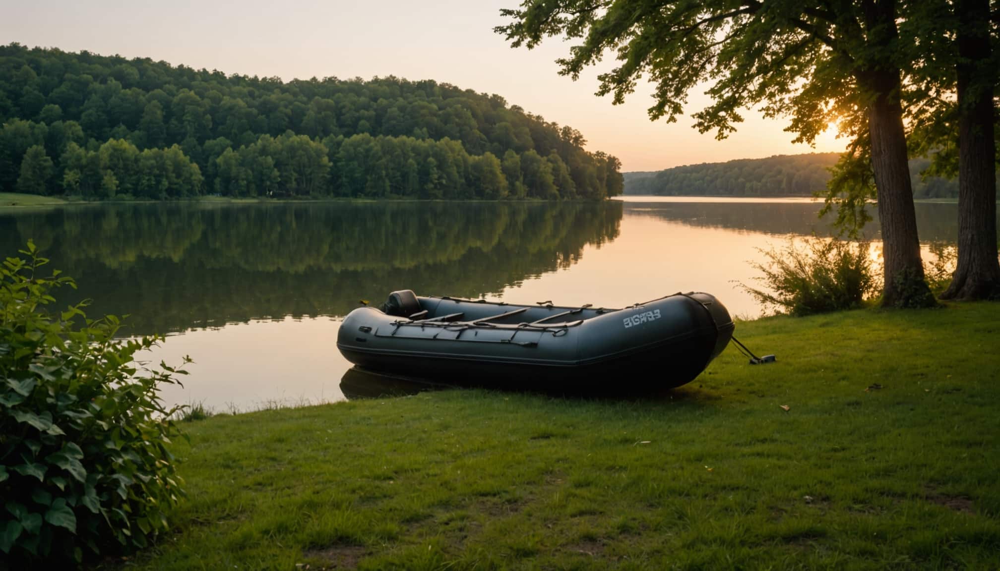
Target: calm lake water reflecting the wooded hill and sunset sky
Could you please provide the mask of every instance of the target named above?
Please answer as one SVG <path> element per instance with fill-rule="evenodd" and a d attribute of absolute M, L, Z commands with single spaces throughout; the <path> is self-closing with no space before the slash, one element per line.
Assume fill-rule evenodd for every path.
<path fill-rule="evenodd" d="M 626 197 L 605 204 L 106 204 L 0 212 L 3 255 L 32 238 L 79 283 L 66 302 L 161 333 L 150 360 L 194 364 L 170 403 L 247 410 L 344 398 L 340 316 L 394 289 L 619 307 L 706 291 L 761 312 L 757 248 L 826 233 L 807 199 Z M 924 241 L 957 237 L 957 205 L 917 204 Z M 868 234 L 877 236 L 873 226 Z"/>

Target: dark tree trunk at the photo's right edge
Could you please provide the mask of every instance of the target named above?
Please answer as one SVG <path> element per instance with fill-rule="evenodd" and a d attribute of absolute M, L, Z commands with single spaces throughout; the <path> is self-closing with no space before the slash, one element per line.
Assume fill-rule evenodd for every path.
<path fill-rule="evenodd" d="M 958 268 L 944 299 L 1000 297 L 989 0 L 959 0 Z"/>

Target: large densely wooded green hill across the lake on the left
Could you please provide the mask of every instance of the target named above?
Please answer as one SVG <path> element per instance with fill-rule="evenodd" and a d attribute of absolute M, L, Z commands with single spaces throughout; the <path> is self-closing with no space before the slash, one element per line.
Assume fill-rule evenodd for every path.
<path fill-rule="evenodd" d="M 0 191 L 602 199 L 620 162 L 498 95 L 0 46 Z"/>

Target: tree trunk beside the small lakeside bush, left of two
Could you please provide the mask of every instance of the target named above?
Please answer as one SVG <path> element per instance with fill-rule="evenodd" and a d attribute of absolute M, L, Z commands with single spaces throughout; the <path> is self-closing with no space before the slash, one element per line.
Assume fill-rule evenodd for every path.
<path fill-rule="evenodd" d="M 898 40 L 895 0 L 862 2 L 866 43 L 872 53 L 857 70 L 858 85 L 869 98 L 868 132 L 882 228 L 885 290 L 882 305 L 929 307 L 934 295 L 924 280 L 917 238 L 917 215 L 903 130 L 902 83 L 889 54 Z"/>

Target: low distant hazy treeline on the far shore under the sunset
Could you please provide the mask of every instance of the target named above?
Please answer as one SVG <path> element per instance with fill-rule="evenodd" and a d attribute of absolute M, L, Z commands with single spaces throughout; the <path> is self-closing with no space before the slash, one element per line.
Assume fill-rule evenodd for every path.
<path fill-rule="evenodd" d="M 827 170 L 838 153 L 775 155 L 766 159 L 739 159 L 703 163 L 659 172 L 625 173 L 625 194 L 660 196 L 812 196 L 826 189 Z M 916 198 L 958 196 L 958 181 L 939 177 L 923 180 L 928 159 L 910 161 Z"/>

